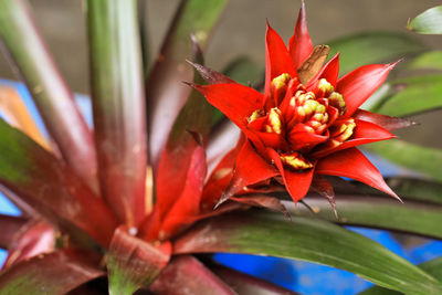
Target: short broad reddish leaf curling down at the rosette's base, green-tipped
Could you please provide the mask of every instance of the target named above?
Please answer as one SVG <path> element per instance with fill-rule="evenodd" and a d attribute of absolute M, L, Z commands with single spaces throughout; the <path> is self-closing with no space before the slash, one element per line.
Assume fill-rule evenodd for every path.
<path fill-rule="evenodd" d="M 131 235 L 126 226 L 119 226 L 107 257 L 109 294 L 133 294 L 150 286 L 169 262 L 170 253 L 169 242 L 155 246 Z"/>

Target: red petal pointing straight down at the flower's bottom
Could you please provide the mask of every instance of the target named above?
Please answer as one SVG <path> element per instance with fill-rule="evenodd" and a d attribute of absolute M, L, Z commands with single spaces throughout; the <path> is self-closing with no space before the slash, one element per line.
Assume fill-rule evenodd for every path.
<path fill-rule="evenodd" d="M 291 171 L 284 169 L 283 162 L 281 161 L 280 155 L 274 149 L 267 149 L 269 156 L 275 162 L 277 169 L 283 177 L 285 187 L 288 193 L 292 196 L 293 201 L 297 202 L 307 194 L 312 183 L 314 169 L 307 169 L 302 171 Z"/>

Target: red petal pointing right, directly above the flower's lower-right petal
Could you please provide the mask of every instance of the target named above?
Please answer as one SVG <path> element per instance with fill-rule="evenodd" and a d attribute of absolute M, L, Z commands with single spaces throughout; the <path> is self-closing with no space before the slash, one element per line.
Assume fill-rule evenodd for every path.
<path fill-rule="evenodd" d="M 350 139 L 344 141 L 341 145 L 334 147 L 334 148 L 325 148 L 325 149 L 318 149 L 318 151 L 315 151 L 313 157 L 315 158 L 322 158 L 327 155 L 330 155 L 332 152 L 336 152 L 338 150 L 347 149 L 350 147 L 355 146 L 360 146 L 369 143 L 375 143 L 375 141 L 380 141 L 380 140 L 386 140 L 386 139 L 391 139 L 394 138 L 396 136 L 389 133 L 388 130 L 383 129 L 382 127 L 365 122 L 365 120 L 359 120 L 355 119 L 356 127 L 354 130 L 352 136 Z"/>

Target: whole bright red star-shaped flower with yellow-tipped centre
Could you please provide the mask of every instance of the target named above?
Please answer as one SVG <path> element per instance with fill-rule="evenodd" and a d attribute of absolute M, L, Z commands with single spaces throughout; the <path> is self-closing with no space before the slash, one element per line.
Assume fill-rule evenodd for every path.
<path fill-rule="evenodd" d="M 196 66 L 206 71 L 202 74 L 212 80 L 209 82 L 218 83 L 193 86 L 246 136 L 220 202 L 246 186 L 271 178 L 284 183 L 293 200 L 298 201 L 312 183 L 323 192 L 330 190 L 323 175 L 356 179 L 398 198 L 375 166 L 355 148 L 394 137 L 379 126 L 391 117 L 358 109 L 394 64 L 361 66 L 338 78 L 336 54 L 315 72 L 317 61 L 326 57 L 320 52 L 327 48 L 314 50 L 304 4 L 288 49 L 269 24 L 265 41 L 264 94 Z M 306 74 L 308 67 L 313 70 Z"/>

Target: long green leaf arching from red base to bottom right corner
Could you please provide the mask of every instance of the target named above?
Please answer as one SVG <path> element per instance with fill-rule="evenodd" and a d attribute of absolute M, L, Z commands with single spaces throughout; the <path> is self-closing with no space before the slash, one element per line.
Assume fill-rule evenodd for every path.
<path fill-rule="evenodd" d="M 380 244 L 317 219 L 249 211 L 199 223 L 179 238 L 178 253 L 229 252 L 297 259 L 343 268 L 408 294 L 440 294 L 442 284 Z"/>

